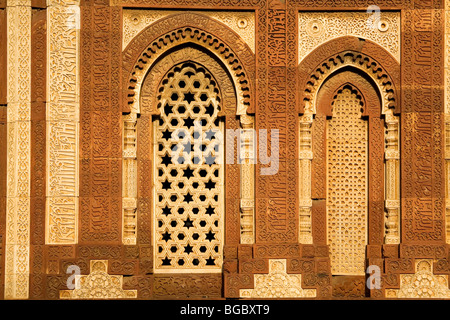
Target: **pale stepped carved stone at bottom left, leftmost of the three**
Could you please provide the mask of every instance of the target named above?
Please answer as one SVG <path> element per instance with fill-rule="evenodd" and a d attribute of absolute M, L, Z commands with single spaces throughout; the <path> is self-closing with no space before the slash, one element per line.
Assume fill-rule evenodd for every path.
<path fill-rule="evenodd" d="M 135 299 L 137 290 L 123 290 L 123 276 L 108 274 L 108 260 L 91 260 L 89 275 L 75 275 L 75 289 L 61 290 L 60 299 Z"/>

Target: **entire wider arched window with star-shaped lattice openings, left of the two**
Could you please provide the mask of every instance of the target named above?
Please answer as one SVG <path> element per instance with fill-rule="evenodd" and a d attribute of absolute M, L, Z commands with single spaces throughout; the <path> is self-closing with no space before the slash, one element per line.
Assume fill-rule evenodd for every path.
<path fill-rule="evenodd" d="M 123 53 L 122 242 L 154 273 L 220 273 L 224 245 L 254 243 L 255 56 L 223 28 L 174 14 Z"/>

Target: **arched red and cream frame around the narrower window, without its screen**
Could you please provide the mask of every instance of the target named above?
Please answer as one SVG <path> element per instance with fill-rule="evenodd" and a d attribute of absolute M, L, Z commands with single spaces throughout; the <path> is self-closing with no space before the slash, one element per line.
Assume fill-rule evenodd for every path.
<path fill-rule="evenodd" d="M 362 116 L 368 119 L 371 137 L 368 243 L 399 242 L 399 70 L 383 48 L 354 37 L 325 43 L 299 65 L 300 176 L 308 181 L 299 190 L 300 218 L 305 221 L 299 230 L 300 242 L 327 242 L 327 117 L 332 116 L 336 90 L 348 84 L 357 88 L 364 101 Z"/>

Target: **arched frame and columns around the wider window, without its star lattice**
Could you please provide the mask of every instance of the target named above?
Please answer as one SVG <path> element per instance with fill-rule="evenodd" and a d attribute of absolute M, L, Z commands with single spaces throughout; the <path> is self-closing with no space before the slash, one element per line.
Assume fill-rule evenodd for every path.
<path fill-rule="evenodd" d="M 153 169 L 157 165 L 152 155 L 158 147 L 154 128 L 157 127 L 155 120 L 161 115 L 158 108 L 161 81 L 174 66 L 191 63 L 208 70 L 220 92 L 217 116 L 223 121 L 224 129 L 238 132 L 238 148 L 253 149 L 254 142 L 245 140 L 245 132 L 254 128 L 250 115 L 253 108 L 250 79 L 254 78 L 254 55 L 236 34 L 227 29 L 201 14 L 173 15 L 143 30 L 124 51 L 123 82 L 127 87 L 123 101 L 124 243 L 145 243 L 155 235 L 156 221 L 152 220 L 155 210 L 152 188 L 155 184 L 148 177 L 155 175 Z M 225 143 L 226 152 L 233 153 L 231 157 L 237 159 L 240 153 L 234 147 L 236 141 Z M 246 177 L 245 184 L 241 176 Z M 224 222 L 227 232 L 224 243 L 254 241 L 253 176 L 252 161 L 241 166 L 225 164 L 227 215 Z"/>

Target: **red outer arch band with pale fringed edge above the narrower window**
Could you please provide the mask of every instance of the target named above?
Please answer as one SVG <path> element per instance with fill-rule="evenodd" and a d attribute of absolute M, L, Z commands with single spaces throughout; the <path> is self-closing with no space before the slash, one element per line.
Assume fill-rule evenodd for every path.
<path fill-rule="evenodd" d="M 388 109 L 400 113 L 399 63 L 378 44 L 351 36 L 321 45 L 299 64 L 299 113 L 315 114 L 317 94 L 323 83 L 349 66 L 359 69 L 376 84 L 382 97 L 383 113 Z"/>

